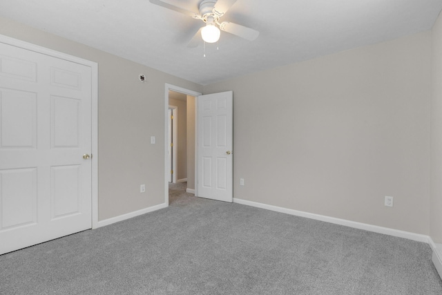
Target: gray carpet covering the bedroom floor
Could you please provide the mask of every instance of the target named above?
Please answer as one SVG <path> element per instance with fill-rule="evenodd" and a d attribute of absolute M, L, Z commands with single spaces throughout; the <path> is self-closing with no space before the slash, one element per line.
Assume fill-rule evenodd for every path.
<path fill-rule="evenodd" d="M 0 294 L 442 294 L 421 242 L 195 198 L 0 256 Z"/>

